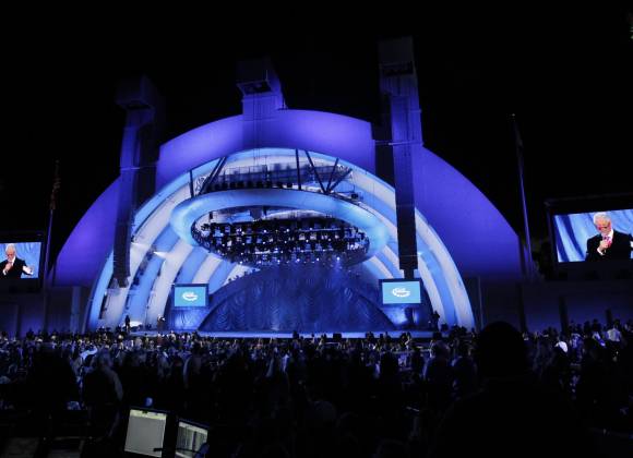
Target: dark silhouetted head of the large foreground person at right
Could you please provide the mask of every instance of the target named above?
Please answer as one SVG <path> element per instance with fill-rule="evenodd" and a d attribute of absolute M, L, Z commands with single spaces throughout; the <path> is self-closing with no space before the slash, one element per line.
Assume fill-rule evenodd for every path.
<path fill-rule="evenodd" d="M 528 370 L 523 337 L 505 322 L 492 323 L 481 330 L 475 359 L 483 377 L 510 377 Z"/>

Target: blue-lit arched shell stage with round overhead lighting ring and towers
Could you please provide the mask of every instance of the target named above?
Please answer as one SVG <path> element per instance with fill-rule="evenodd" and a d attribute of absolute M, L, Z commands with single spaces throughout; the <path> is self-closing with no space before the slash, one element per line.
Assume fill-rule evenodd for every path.
<path fill-rule="evenodd" d="M 393 60 L 402 58 L 410 64 Z M 270 62 L 249 62 L 238 72 L 241 114 L 158 149 L 141 134 L 162 106 L 156 91 L 146 80 L 124 87 L 121 176 L 56 264 L 77 327 L 165 316 L 175 330 L 395 334 L 427 329 L 431 311 L 441 324 L 475 327 L 482 298 L 514 294 L 504 285 L 521 278 L 521 243 L 470 181 L 422 146 L 414 67 L 410 43 L 381 45 L 380 91 L 402 109 L 393 105 L 379 129 L 289 109 Z M 271 227 L 274 237 L 263 232 Z M 265 273 L 275 265 L 286 269 Z M 329 274 L 310 273 L 319 265 Z M 418 302 L 385 306 L 379 281 L 404 277 L 421 281 Z M 177 310 L 175 285 L 206 288 L 206 306 Z M 28 320 L 21 326 L 38 327 Z"/>

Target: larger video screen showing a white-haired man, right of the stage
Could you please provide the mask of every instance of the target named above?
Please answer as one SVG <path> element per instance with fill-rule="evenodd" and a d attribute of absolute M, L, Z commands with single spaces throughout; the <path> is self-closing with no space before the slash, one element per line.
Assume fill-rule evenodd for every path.
<path fill-rule="evenodd" d="M 633 250 L 633 208 L 554 214 L 559 263 L 626 261 Z"/>

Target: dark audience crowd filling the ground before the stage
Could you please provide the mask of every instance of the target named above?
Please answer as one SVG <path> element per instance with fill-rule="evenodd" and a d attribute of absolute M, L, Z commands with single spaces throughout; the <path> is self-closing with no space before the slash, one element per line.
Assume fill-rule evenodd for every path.
<path fill-rule="evenodd" d="M 46 445 L 81 412 L 85 456 L 120 456 L 139 406 L 207 424 L 214 457 L 588 456 L 592 431 L 633 431 L 632 401 L 631 321 L 430 340 L 0 336 L 3 422 Z"/>

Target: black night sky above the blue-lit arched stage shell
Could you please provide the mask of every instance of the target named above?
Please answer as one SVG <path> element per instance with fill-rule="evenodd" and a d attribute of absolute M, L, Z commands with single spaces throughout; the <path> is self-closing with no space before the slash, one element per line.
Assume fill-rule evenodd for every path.
<path fill-rule="evenodd" d="M 512 112 L 525 145 L 533 236 L 547 234 L 546 198 L 633 190 L 633 40 L 624 9 L 446 10 L 374 12 L 367 21 L 310 15 L 312 23 L 291 12 L 296 20 L 235 20 L 228 32 L 219 23 L 234 20 L 202 11 L 29 24 L 2 65 L 0 231 L 46 228 L 56 159 L 55 251 L 116 179 L 121 77 L 145 73 L 166 97 L 166 138 L 239 113 L 236 61 L 261 56 L 272 58 L 289 108 L 378 121 L 377 41 L 405 35 L 415 43 L 426 146 L 515 229 L 523 222 Z"/>

